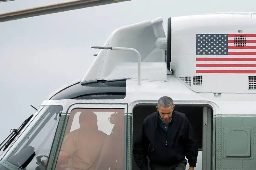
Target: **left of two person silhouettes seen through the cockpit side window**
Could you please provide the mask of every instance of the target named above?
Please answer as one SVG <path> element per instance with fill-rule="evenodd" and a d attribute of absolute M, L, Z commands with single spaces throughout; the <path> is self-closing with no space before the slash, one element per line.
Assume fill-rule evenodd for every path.
<path fill-rule="evenodd" d="M 95 170 L 95 160 L 107 136 L 98 130 L 97 121 L 93 112 L 80 114 L 80 128 L 65 135 L 56 169 Z"/>

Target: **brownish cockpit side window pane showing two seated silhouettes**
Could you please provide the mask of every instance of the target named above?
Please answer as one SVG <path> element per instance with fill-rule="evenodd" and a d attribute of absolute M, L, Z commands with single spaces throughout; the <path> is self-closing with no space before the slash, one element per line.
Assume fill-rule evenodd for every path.
<path fill-rule="evenodd" d="M 55 169 L 123 169 L 124 109 L 72 110 Z"/>

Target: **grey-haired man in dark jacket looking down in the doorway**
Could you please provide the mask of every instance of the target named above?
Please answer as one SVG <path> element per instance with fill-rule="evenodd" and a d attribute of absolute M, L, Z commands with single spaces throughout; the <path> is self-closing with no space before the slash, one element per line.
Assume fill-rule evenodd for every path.
<path fill-rule="evenodd" d="M 152 170 L 194 170 L 198 146 L 193 128 L 185 114 L 173 111 L 170 97 L 161 97 L 157 111 L 145 118 L 134 147 L 137 166 L 147 170 L 147 156 Z M 185 159 L 188 159 L 188 161 Z"/>

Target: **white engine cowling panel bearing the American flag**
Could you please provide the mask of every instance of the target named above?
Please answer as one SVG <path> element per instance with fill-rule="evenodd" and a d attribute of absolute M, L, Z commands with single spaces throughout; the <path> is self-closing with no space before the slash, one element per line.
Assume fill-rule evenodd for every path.
<path fill-rule="evenodd" d="M 256 64 L 255 54 L 240 55 L 240 53 L 237 55 L 224 56 L 197 55 L 196 53 L 197 44 L 199 43 L 203 46 L 203 44 L 205 44 L 203 42 L 207 40 L 202 37 L 202 41 L 198 41 L 196 37 L 197 34 L 202 34 L 202 36 L 204 34 L 227 34 L 228 38 L 226 38 L 225 35 L 221 37 L 223 39 L 219 47 L 223 48 L 224 46 L 228 46 L 228 53 L 237 51 L 255 52 L 255 49 L 249 49 L 250 46 L 255 46 L 255 43 L 248 42 L 256 40 L 256 18 L 253 16 L 254 15 L 252 13 L 217 13 L 207 15 L 173 17 L 171 19 L 171 68 L 174 70 L 175 77 L 191 77 L 191 81 L 193 82 L 194 76 L 201 75 L 203 79 L 202 85 L 193 85 L 193 83 L 191 86 L 187 85 L 188 88 L 201 93 L 255 93 L 255 90 L 248 89 L 248 76 L 256 75 L 256 67 L 248 67 L 248 65 L 245 65 Z M 236 36 L 247 35 L 246 46 L 248 46 L 248 48 L 234 48 L 234 36 L 232 37 L 232 34 L 236 34 Z M 211 40 L 217 41 L 219 39 L 215 39 L 213 37 L 213 39 Z M 204 46 L 203 48 L 211 48 L 211 45 L 209 47 Z M 208 52 L 210 52 L 211 50 L 215 49 L 210 49 Z M 205 57 L 207 57 L 208 59 L 211 58 L 212 61 L 197 61 L 200 60 L 200 58 L 202 59 Z M 219 58 L 224 58 L 224 60 Z M 245 58 L 245 60 L 240 60 L 240 58 Z M 214 66 L 209 67 L 209 64 Z M 235 65 L 232 64 L 240 64 L 240 66 L 238 65 L 237 67 L 235 67 Z M 197 70 L 199 70 L 199 72 L 197 72 Z M 200 70 L 222 70 L 223 72 L 233 72 L 234 70 L 236 70 L 236 72 L 238 73 L 200 73 Z"/>

